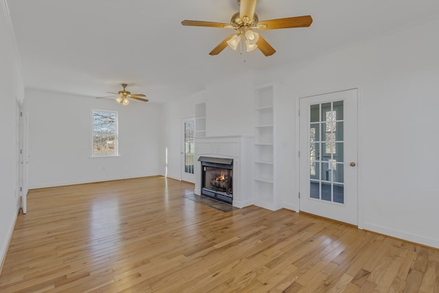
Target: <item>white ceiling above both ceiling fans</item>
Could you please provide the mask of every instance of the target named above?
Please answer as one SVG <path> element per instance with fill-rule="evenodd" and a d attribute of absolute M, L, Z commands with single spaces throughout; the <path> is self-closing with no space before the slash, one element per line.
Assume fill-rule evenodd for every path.
<path fill-rule="evenodd" d="M 26 87 L 88 96 L 146 93 L 151 102 L 202 91 L 218 78 L 303 62 L 439 16 L 438 0 L 259 0 L 260 20 L 311 14 L 308 28 L 261 32 L 265 57 L 209 51 L 233 30 L 183 27 L 184 19 L 228 23 L 237 0 L 8 0 Z M 410 38 L 407 38 L 410 41 Z"/>

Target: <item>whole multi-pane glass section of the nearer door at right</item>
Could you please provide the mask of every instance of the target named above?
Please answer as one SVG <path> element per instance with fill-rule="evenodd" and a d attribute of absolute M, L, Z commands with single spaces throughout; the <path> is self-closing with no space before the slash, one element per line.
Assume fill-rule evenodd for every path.
<path fill-rule="evenodd" d="M 343 101 L 311 105 L 310 114 L 309 196 L 343 204 Z"/>

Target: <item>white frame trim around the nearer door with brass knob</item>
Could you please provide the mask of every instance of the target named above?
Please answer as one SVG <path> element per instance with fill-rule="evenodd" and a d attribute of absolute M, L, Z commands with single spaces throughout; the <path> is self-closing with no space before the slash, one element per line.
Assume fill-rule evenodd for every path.
<path fill-rule="evenodd" d="M 297 158 L 298 158 L 298 161 L 297 161 L 297 164 L 296 164 L 296 172 L 297 172 L 297 174 L 298 174 L 298 176 L 296 177 L 296 182 L 297 182 L 297 192 L 298 192 L 298 194 L 300 193 L 300 189 L 301 189 L 301 187 L 300 187 L 300 178 L 301 178 L 301 176 L 303 176 L 301 173 L 300 173 L 300 153 L 299 152 L 303 152 L 304 154 L 303 155 L 306 155 L 306 153 L 307 152 L 304 152 L 304 150 L 301 150 L 300 148 L 301 148 L 301 143 L 300 143 L 300 128 L 301 128 L 301 126 L 300 126 L 300 112 L 299 112 L 299 110 L 300 111 L 303 111 L 304 109 L 301 109 L 300 108 L 300 99 L 303 99 L 303 98 L 309 98 L 309 97 L 318 97 L 318 96 L 322 96 L 322 95 L 329 95 L 329 94 L 335 94 L 335 93 L 342 93 L 342 92 L 346 92 L 346 91 L 356 91 L 356 103 L 357 103 L 357 108 L 355 109 L 356 111 L 357 111 L 357 117 L 355 117 L 355 128 L 356 128 L 356 137 L 355 137 L 355 143 L 357 144 L 357 154 L 356 154 L 356 156 L 355 156 L 355 163 L 357 164 L 356 166 L 355 166 L 355 168 L 357 168 L 357 171 L 356 171 L 356 185 L 355 185 L 355 192 L 356 192 L 356 194 L 357 194 L 357 204 L 356 204 L 356 211 L 357 211 L 357 226 L 358 226 L 358 228 L 362 228 L 362 226 L 363 226 L 363 224 L 362 224 L 362 213 L 361 213 L 361 209 L 359 208 L 360 207 L 360 203 L 361 203 L 361 200 L 360 200 L 360 194 L 359 194 L 359 103 L 360 103 L 360 91 L 359 91 L 359 89 L 346 89 L 346 90 L 344 90 L 344 91 L 334 91 L 334 92 L 331 92 L 331 93 L 323 93 L 323 94 L 320 94 L 320 95 L 309 95 L 309 96 L 305 96 L 305 97 L 300 97 L 300 98 L 298 98 L 298 99 L 296 99 L 296 108 L 298 109 L 298 111 L 296 112 L 297 113 L 297 115 L 296 115 L 296 150 L 298 150 L 298 156 L 297 156 Z M 308 127 L 308 126 L 307 126 Z M 346 162 L 344 162 L 346 165 L 348 165 L 349 164 L 349 161 L 346 161 Z M 303 178 L 302 178 L 303 179 Z M 302 195 L 302 196 L 305 196 L 305 195 Z M 298 200 L 298 212 L 300 211 L 300 202 L 301 202 L 301 200 L 300 200 L 300 198 L 299 198 L 299 200 Z"/>

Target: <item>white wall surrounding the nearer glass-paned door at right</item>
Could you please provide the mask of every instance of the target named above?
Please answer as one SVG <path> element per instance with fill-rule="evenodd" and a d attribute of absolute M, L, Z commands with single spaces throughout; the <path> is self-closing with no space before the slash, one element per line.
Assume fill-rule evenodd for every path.
<path fill-rule="evenodd" d="M 281 104 L 289 104 L 292 115 L 297 113 L 298 97 L 359 88 L 360 223 L 436 247 L 439 41 L 432 36 L 438 29 L 439 21 L 433 21 L 270 72 L 281 80 Z M 283 141 L 298 138 L 296 127 L 287 128 L 276 124 L 276 150 L 279 157 L 289 158 L 275 163 L 280 183 L 290 178 L 289 163 L 296 163 L 297 149 L 283 148 Z M 285 207 L 298 207 L 297 191 L 291 186 L 278 189 Z"/>

